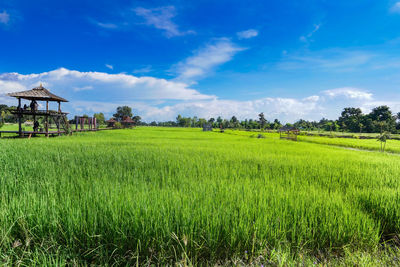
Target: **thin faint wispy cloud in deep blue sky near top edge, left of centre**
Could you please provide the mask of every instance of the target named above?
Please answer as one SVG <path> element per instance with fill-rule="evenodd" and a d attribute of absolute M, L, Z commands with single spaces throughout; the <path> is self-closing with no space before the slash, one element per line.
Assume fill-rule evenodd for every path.
<path fill-rule="evenodd" d="M 172 19 L 176 16 L 174 6 L 158 8 L 137 7 L 133 11 L 137 16 L 143 17 L 147 25 L 163 30 L 167 37 L 194 33 L 193 31 L 181 31 L 178 25 L 172 22 Z"/>

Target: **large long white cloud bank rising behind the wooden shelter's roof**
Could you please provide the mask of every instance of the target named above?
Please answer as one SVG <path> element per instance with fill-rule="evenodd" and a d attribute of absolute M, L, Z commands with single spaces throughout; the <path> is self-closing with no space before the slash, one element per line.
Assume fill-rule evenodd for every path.
<path fill-rule="evenodd" d="M 9 89 L 9 83 L 14 82 L 25 88 L 32 88 L 41 82 L 55 94 L 67 99 L 78 100 L 80 93 L 88 90 L 73 88 L 95 88 L 91 93 L 92 101 L 121 101 L 135 100 L 201 100 L 214 96 L 204 95 L 191 89 L 187 84 L 168 81 L 154 77 L 136 77 L 128 74 L 108 74 L 104 72 L 80 72 L 65 68 L 49 72 L 34 74 L 4 73 L 0 74 L 0 81 L 6 82 L 7 87 L 0 87 L 0 91 Z M 93 90 L 94 91 L 94 90 Z M 88 97 L 88 96 L 86 96 Z"/>

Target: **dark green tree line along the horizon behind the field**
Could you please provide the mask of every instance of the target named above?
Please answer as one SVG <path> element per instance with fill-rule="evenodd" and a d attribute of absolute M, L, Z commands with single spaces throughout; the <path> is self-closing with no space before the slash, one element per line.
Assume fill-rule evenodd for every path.
<path fill-rule="evenodd" d="M 16 107 L 8 107 L 0 104 L 0 124 L 1 123 L 16 123 L 17 118 L 8 110 Z M 85 115 L 84 115 L 85 116 Z M 86 115 L 87 116 L 87 115 Z M 106 119 L 104 113 L 95 113 L 98 124 L 105 124 Z M 135 121 L 136 125 L 142 126 L 164 126 L 164 127 L 203 127 L 210 125 L 214 128 L 237 128 L 237 129 L 262 129 L 262 130 L 277 130 L 284 126 L 278 119 L 267 120 L 264 113 L 260 113 L 257 119 L 239 120 L 236 116 L 230 119 L 222 118 L 199 118 L 184 117 L 178 115 L 174 121 L 163 121 L 150 123 L 142 122 L 141 117 L 133 116 L 132 108 L 128 106 L 120 106 L 117 108 L 113 118 L 120 122 L 124 118 L 130 117 Z M 73 122 L 73 120 L 71 120 Z M 359 133 L 377 133 L 390 132 L 400 133 L 400 112 L 392 113 L 388 106 L 379 106 L 368 114 L 364 114 L 360 108 L 347 107 L 341 112 L 336 120 L 328 120 L 322 118 L 319 121 L 308 121 L 300 119 L 295 123 L 286 123 L 286 126 L 296 127 L 304 131 L 342 131 L 342 132 L 359 132 Z"/>

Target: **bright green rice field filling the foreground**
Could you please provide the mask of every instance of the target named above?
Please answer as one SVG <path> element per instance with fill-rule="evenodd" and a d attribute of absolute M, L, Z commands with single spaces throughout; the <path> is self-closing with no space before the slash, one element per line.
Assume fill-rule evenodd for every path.
<path fill-rule="evenodd" d="M 396 263 L 398 155 L 237 132 L 0 139 L 1 263 Z"/>

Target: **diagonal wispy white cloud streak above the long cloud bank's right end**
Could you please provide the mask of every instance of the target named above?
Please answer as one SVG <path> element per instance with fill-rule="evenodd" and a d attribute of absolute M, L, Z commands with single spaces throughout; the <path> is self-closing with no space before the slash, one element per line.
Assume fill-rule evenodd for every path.
<path fill-rule="evenodd" d="M 227 38 L 217 39 L 173 67 L 178 74 L 177 80 L 193 81 L 201 78 L 217 66 L 230 61 L 242 50 L 244 48 L 236 46 Z"/>

